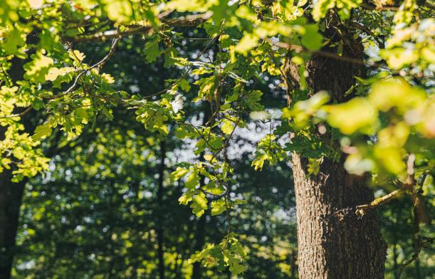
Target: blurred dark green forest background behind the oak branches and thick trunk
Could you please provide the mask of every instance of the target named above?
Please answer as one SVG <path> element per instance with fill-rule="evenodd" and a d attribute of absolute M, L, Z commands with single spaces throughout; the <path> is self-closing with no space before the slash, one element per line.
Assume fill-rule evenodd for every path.
<path fill-rule="evenodd" d="M 204 34 L 189 37 L 193 35 L 198 40 L 180 41 L 180 51 L 200 49 Z M 177 77 L 179 71 L 164 68 L 164 60 L 146 62 L 140 38 L 124 40 L 105 65 L 105 72 L 120 77 L 120 90 L 152 95 L 167 86 L 165 80 Z M 106 43 L 75 47 L 95 61 L 107 52 Z M 211 48 L 204 59 L 213 56 Z M 284 93 L 276 86 L 280 81 L 262 80 L 264 84 L 255 86 L 273 92 L 269 96 L 275 98 L 262 100 L 273 110 L 283 102 Z M 191 100 L 185 100 L 186 107 Z M 187 113 L 187 119 L 201 123 L 209 107 L 204 104 L 199 111 L 192 106 Z M 182 181 L 169 178 L 177 162 L 201 154 L 193 154 L 189 142 L 175 139 L 174 131 L 168 137 L 148 132 L 130 110 L 119 107 L 113 114 L 115 120 L 101 117 L 77 139 L 67 142 L 57 132 L 46 141 L 51 172 L 26 184 L 14 278 L 231 278 L 230 273 L 188 261 L 204 244 L 218 243 L 228 230 L 225 216 L 206 211 L 197 218 L 189 206 L 179 205 Z M 248 248 L 243 278 L 298 278 L 290 167 L 281 163 L 262 172 L 251 167 L 255 140 L 249 139 L 264 135 L 271 125 L 276 123 L 251 122 L 227 150 L 237 181 L 232 194 L 248 200 L 231 212 L 230 221 L 231 231 L 239 233 Z M 431 278 L 434 273 L 431 247 L 402 267 L 414 254 L 410 204 L 404 197 L 379 211 L 389 245 L 386 278 L 398 278 L 400 272 L 402 278 Z"/>

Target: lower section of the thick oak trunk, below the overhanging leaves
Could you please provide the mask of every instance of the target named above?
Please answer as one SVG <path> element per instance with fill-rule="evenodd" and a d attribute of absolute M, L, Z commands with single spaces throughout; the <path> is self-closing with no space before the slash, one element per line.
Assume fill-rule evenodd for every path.
<path fill-rule="evenodd" d="M 342 163 L 325 160 L 307 179 L 304 160 L 293 154 L 301 279 L 384 278 L 385 245 L 377 216 L 335 214 L 367 204 L 372 191 L 363 177 L 347 174 Z"/>

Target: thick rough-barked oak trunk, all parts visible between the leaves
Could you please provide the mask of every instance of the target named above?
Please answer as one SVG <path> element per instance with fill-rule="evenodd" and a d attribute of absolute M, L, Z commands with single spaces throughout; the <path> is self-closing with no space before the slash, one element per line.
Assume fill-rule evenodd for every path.
<path fill-rule="evenodd" d="M 328 34 L 326 35 L 328 36 Z M 335 35 L 334 35 L 335 36 Z M 351 38 L 351 37 L 350 37 Z M 332 40 L 337 40 L 333 38 Z M 343 56 L 361 57 L 358 41 L 343 42 Z M 324 51 L 335 52 L 334 49 Z M 313 93 L 327 90 L 333 100 L 344 102 L 344 93 L 364 76 L 357 63 L 313 55 L 307 66 L 308 86 Z M 298 85 L 294 65 L 286 65 L 289 102 L 291 90 Z M 316 135 L 313 135 L 316 136 Z M 330 135 L 317 135 L 323 140 Z M 308 177 L 308 160 L 292 154 L 298 221 L 298 272 L 300 279 L 380 279 L 384 278 L 386 246 L 374 212 L 362 218 L 334 216 L 340 209 L 367 204 L 373 194 L 365 177 L 347 174 L 343 160 L 324 158 L 318 175 Z"/>

